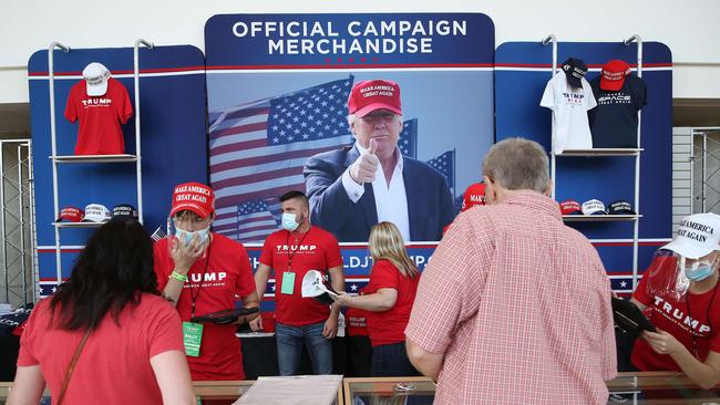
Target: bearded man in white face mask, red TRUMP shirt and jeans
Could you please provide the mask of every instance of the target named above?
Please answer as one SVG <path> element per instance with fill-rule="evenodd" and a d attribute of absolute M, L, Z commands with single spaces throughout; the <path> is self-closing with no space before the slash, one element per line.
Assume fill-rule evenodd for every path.
<path fill-rule="evenodd" d="M 260 263 L 255 272 L 257 295 L 263 297 L 270 272 L 275 272 L 278 366 L 280 375 L 298 374 L 302 345 L 308 347 L 315 374 L 332 372 L 331 339 L 338 332 L 340 305 L 321 304 L 302 298 L 302 278 L 309 270 L 328 272 L 332 288 L 344 291 L 342 257 L 332 233 L 310 224 L 308 198 L 301 191 L 280 196 L 282 229 L 265 240 Z M 250 322 L 263 329 L 261 318 Z"/>

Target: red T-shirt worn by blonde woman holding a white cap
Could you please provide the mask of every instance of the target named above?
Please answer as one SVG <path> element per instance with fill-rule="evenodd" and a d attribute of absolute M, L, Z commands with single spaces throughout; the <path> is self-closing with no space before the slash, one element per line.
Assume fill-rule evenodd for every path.
<path fill-rule="evenodd" d="M 368 334 L 373 346 L 405 341 L 405 328 L 410 320 L 412 303 L 415 301 L 420 274 L 414 279 L 402 276 L 390 260 L 378 260 L 370 271 L 370 282 L 364 289 L 372 294 L 380 289 L 398 291 L 394 307 L 384 312 L 368 312 Z"/>

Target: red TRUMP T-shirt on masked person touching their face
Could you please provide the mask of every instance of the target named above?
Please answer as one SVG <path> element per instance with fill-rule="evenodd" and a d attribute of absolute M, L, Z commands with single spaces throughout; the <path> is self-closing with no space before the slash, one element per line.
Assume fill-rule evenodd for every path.
<path fill-rule="evenodd" d="M 235 302 L 255 291 L 255 279 L 247 251 L 243 245 L 222 235 L 212 233 L 213 241 L 204 258 L 195 260 L 187 273 L 177 305 L 181 320 L 192 318 L 195 295 L 195 315 L 205 315 L 235 308 Z M 163 291 L 175 262 L 167 247 L 169 239 L 155 243 L 155 273 L 157 289 Z M 209 260 L 209 261 L 208 261 Z M 193 381 L 244 380 L 240 340 L 236 325 L 203 324 L 200 355 L 188 356 Z"/>

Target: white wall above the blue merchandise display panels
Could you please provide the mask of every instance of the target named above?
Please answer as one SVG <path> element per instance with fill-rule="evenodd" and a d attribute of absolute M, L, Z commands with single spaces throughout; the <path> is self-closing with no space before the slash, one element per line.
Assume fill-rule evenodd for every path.
<path fill-rule="evenodd" d="M 0 103 L 27 102 L 30 55 L 54 40 L 72 48 L 156 44 L 204 49 L 205 21 L 219 13 L 484 12 L 495 22 L 496 44 L 541 41 L 621 41 L 638 33 L 673 54 L 675 97 L 720 98 L 720 1 L 693 0 L 366 0 L 366 1 L 79 1 L 0 2 Z"/>

